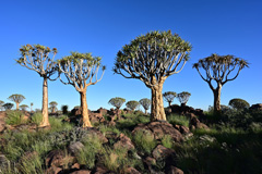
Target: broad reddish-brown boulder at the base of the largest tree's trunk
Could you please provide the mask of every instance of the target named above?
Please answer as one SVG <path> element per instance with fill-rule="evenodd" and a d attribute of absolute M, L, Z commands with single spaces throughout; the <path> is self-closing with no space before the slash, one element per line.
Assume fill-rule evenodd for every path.
<path fill-rule="evenodd" d="M 139 130 L 153 134 L 156 140 L 160 140 L 165 135 L 169 135 L 176 142 L 183 141 L 181 133 L 167 122 L 151 122 L 147 124 L 139 124 L 132 130 L 132 134 L 134 135 Z"/>

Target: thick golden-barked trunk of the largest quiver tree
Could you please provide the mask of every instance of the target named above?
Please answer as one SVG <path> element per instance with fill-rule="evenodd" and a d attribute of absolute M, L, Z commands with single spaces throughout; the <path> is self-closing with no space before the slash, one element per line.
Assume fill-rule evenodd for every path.
<path fill-rule="evenodd" d="M 154 80 L 156 80 L 155 77 L 153 77 L 152 84 L 155 84 Z M 152 122 L 166 121 L 166 114 L 165 114 L 163 95 L 162 95 L 164 82 L 165 82 L 165 77 L 159 79 L 158 84 L 151 88 L 151 94 L 152 94 L 151 121 Z"/>

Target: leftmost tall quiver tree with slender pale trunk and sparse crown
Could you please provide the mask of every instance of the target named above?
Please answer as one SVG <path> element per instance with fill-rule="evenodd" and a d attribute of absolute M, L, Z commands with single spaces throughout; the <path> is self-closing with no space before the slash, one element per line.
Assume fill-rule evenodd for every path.
<path fill-rule="evenodd" d="M 43 102 L 41 102 L 41 113 L 43 121 L 40 127 L 49 126 L 48 121 L 48 79 L 51 79 L 51 76 L 57 72 L 56 63 L 53 61 L 55 55 L 57 54 L 57 49 L 52 50 L 49 47 L 41 45 L 26 45 L 22 46 L 20 49 L 21 58 L 16 62 L 37 72 L 40 77 L 43 77 Z M 52 57 L 49 57 L 52 53 Z"/>

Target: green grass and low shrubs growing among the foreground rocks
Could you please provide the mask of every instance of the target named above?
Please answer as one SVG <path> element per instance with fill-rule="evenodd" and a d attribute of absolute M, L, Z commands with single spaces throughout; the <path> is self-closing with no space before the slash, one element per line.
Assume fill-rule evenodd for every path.
<path fill-rule="evenodd" d="M 0 149 L 10 162 L 2 163 L 0 173 L 45 173 L 48 169 L 46 159 L 52 150 L 60 150 L 64 157 L 63 169 L 70 169 L 75 162 L 84 169 L 95 172 L 97 165 L 103 165 L 115 173 L 124 173 L 127 167 L 135 167 L 141 173 L 150 173 L 143 164 L 157 145 L 175 150 L 176 166 L 184 173 L 261 173 L 262 171 L 262 112 L 228 109 L 222 115 L 206 112 L 202 121 L 209 129 L 194 129 L 193 136 L 186 137 L 183 142 L 174 142 L 168 135 L 162 140 L 155 140 L 151 135 L 131 132 L 140 123 L 148 123 L 150 116 L 140 112 L 123 114 L 116 126 L 93 124 L 103 135 L 123 134 L 132 140 L 135 148 L 115 147 L 115 138 L 103 142 L 99 138 L 87 136 L 81 127 L 63 122 L 68 115 L 50 116 L 51 128 L 29 130 L 5 130 L 0 136 Z M 189 119 L 170 114 L 169 123 L 189 126 Z M 35 113 L 29 120 L 22 121 L 19 111 L 8 113 L 10 125 L 40 124 L 41 114 Z M 81 141 L 84 145 L 75 154 L 74 161 L 68 147 Z M 157 159 L 153 164 L 155 171 L 165 171 L 166 164 Z"/>

